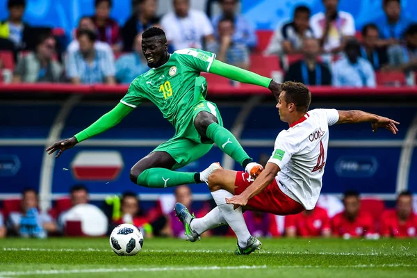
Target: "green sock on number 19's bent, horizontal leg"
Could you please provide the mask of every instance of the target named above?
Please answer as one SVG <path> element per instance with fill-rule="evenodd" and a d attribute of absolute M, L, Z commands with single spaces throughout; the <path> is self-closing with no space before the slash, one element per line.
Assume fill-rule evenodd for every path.
<path fill-rule="evenodd" d="M 181 184 L 195 183 L 195 174 L 174 172 L 165 168 L 150 168 L 140 173 L 137 183 L 152 188 L 181 186 Z"/>

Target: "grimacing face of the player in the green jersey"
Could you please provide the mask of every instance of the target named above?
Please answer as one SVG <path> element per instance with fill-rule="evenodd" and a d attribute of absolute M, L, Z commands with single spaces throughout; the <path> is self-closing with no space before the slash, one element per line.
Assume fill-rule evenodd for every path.
<path fill-rule="evenodd" d="M 166 61 L 168 44 L 162 42 L 161 38 L 152 37 L 142 39 L 142 52 L 147 60 L 148 67 L 159 67 Z"/>

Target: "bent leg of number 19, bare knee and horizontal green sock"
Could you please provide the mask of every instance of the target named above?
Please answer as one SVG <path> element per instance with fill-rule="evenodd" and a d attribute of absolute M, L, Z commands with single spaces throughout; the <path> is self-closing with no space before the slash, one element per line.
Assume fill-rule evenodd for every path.
<path fill-rule="evenodd" d="M 130 179 L 140 186 L 166 188 L 186 183 L 200 183 L 199 173 L 175 172 L 176 161 L 167 152 L 152 152 L 133 165 Z"/>

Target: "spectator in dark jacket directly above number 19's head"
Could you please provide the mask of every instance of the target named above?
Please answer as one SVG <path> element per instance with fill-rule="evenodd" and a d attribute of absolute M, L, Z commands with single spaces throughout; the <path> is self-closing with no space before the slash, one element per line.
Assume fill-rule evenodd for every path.
<path fill-rule="evenodd" d="M 124 52 L 132 51 L 136 35 L 158 24 L 161 19 L 156 16 L 156 11 L 158 10 L 157 0 L 136 0 L 133 1 L 132 5 L 133 15 L 127 19 L 122 28 Z"/>

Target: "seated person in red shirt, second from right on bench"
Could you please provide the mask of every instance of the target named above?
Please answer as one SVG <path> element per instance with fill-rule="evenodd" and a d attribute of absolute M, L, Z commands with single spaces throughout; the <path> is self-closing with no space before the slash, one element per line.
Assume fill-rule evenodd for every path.
<path fill-rule="evenodd" d="M 373 237 L 373 219 L 369 213 L 361 211 L 359 193 L 354 190 L 345 192 L 343 205 L 345 211 L 332 218 L 334 236 L 343 236 L 343 238 Z"/>

